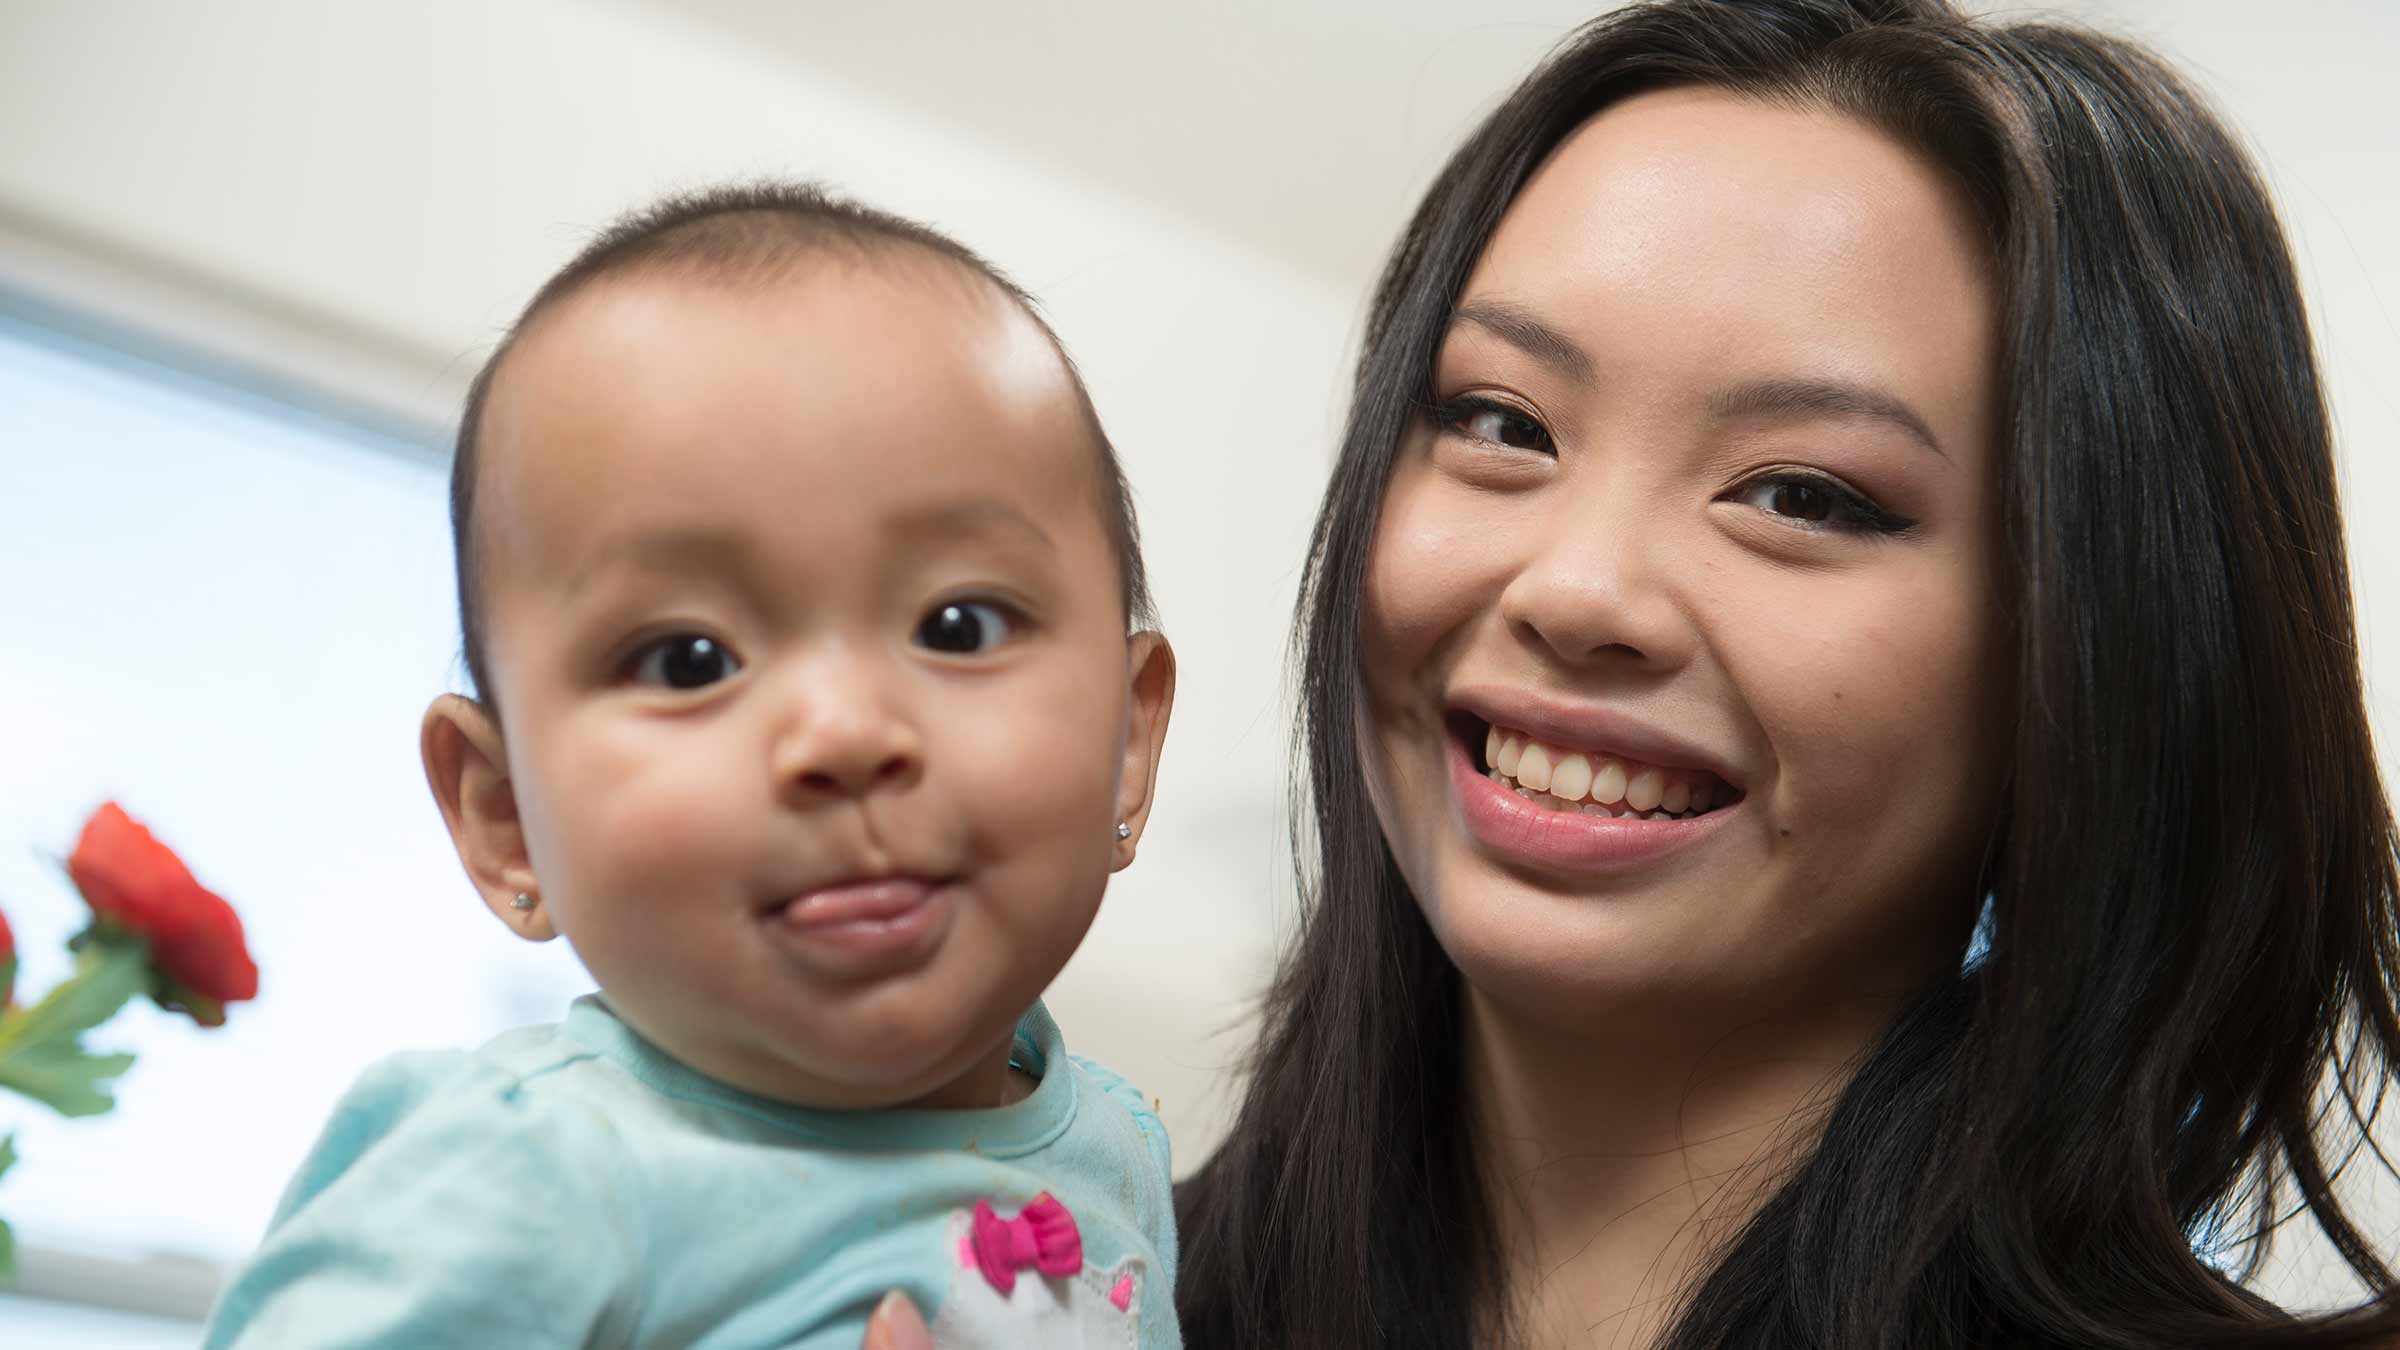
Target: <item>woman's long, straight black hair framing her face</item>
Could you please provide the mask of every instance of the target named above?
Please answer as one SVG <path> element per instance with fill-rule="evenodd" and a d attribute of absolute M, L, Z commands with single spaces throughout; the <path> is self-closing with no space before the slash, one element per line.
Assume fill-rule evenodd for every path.
<path fill-rule="evenodd" d="M 1942 0 L 1666 0 L 1574 34 L 1457 151 L 1375 291 L 1301 598 L 1303 930 L 1183 1189 L 1186 1340 L 1507 1343 L 1459 973 L 1358 766 L 1378 509 L 1500 214 L 1596 110 L 1716 86 L 1918 147 L 2004 295 L 2011 778 L 1990 951 L 1898 1016 L 1682 1292 L 1702 1348 L 2366 1345 L 2335 1194 L 2400 1050 L 2395 831 L 2306 312 L 2244 151 L 2143 50 Z M 2242 1288 L 2304 1211 L 2371 1302 Z"/>

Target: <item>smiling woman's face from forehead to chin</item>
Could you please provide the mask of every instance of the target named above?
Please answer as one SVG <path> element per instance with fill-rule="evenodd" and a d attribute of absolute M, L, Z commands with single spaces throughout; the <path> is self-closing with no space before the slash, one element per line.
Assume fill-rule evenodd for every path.
<path fill-rule="evenodd" d="M 1997 802 L 1994 288 L 1838 113 L 1658 91 L 1500 221 L 1392 471 L 1368 785 L 1471 987 L 1560 1026 L 1956 961 Z"/>

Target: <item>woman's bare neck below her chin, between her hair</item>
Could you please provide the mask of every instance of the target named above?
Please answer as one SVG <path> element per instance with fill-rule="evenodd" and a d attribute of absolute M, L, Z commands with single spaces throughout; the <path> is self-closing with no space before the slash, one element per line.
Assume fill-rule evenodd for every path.
<path fill-rule="evenodd" d="M 1466 1100 L 1531 1350 L 1642 1350 L 1824 1127 L 1894 999 L 1562 1033 L 1464 992 Z"/>

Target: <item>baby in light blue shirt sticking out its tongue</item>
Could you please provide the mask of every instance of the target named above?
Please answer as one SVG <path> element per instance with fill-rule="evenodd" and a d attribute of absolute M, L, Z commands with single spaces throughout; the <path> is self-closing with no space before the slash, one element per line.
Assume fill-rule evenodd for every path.
<path fill-rule="evenodd" d="M 958 243 L 809 187 L 583 250 L 468 396 L 458 858 L 600 992 L 343 1098 L 209 1345 L 1178 1345 L 1166 1134 L 1039 1006 L 1174 701 L 1123 476 Z M 1130 637 L 1128 637 L 1130 634 Z"/>

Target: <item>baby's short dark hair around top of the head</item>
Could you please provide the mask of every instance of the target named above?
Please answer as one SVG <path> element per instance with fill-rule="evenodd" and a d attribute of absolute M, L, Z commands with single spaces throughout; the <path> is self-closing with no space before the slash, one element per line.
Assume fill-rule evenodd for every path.
<path fill-rule="evenodd" d="M 1133 632 L 1157 622 L 1126 471 L 1118 466 L 1116 447 L 1109 444 L 1109 435 L 1099 425 L 1099 411 L 1092 408 L 1092 394 L 1082 384 L 1082 372 L 1075 370 L 1075 360 L 1066 353 L 1066 344 L 1058 341 L 1049 319 L 1042 317 L 1034 298 L 974 250 L 931 226 L 850 202 L 814 183 L 742 183 L 679 192 L 622 216 L 533 293 L 533 300 L 526 303 L 526 310 L 468 387 L 466 411 L 458 418 L 458 447 L 451 459 L 451 548 L 458 560 L 458 634 L 466 649 L 468 680 L 473 680 L 475 694 L 494 716 L 497 701 L 485 661 L 482 629 L 482 548 L 475 538 L 475 449 L 492 380 L 526 329 L 593 281 L 629 271 L 686 269 L 710 279 L 744 279 L 770 276 L 794 262 L 826 252 L 852 252 L 871 259 L 898 250 L 917 250 L 989 281 L 1049 336 L 1058 363 L 1066 368 L 1068 384 L 1075 389 L 1085 425 L 1092 432 L 1102 524 L 1116 550 L 1126 629 Z"/>

